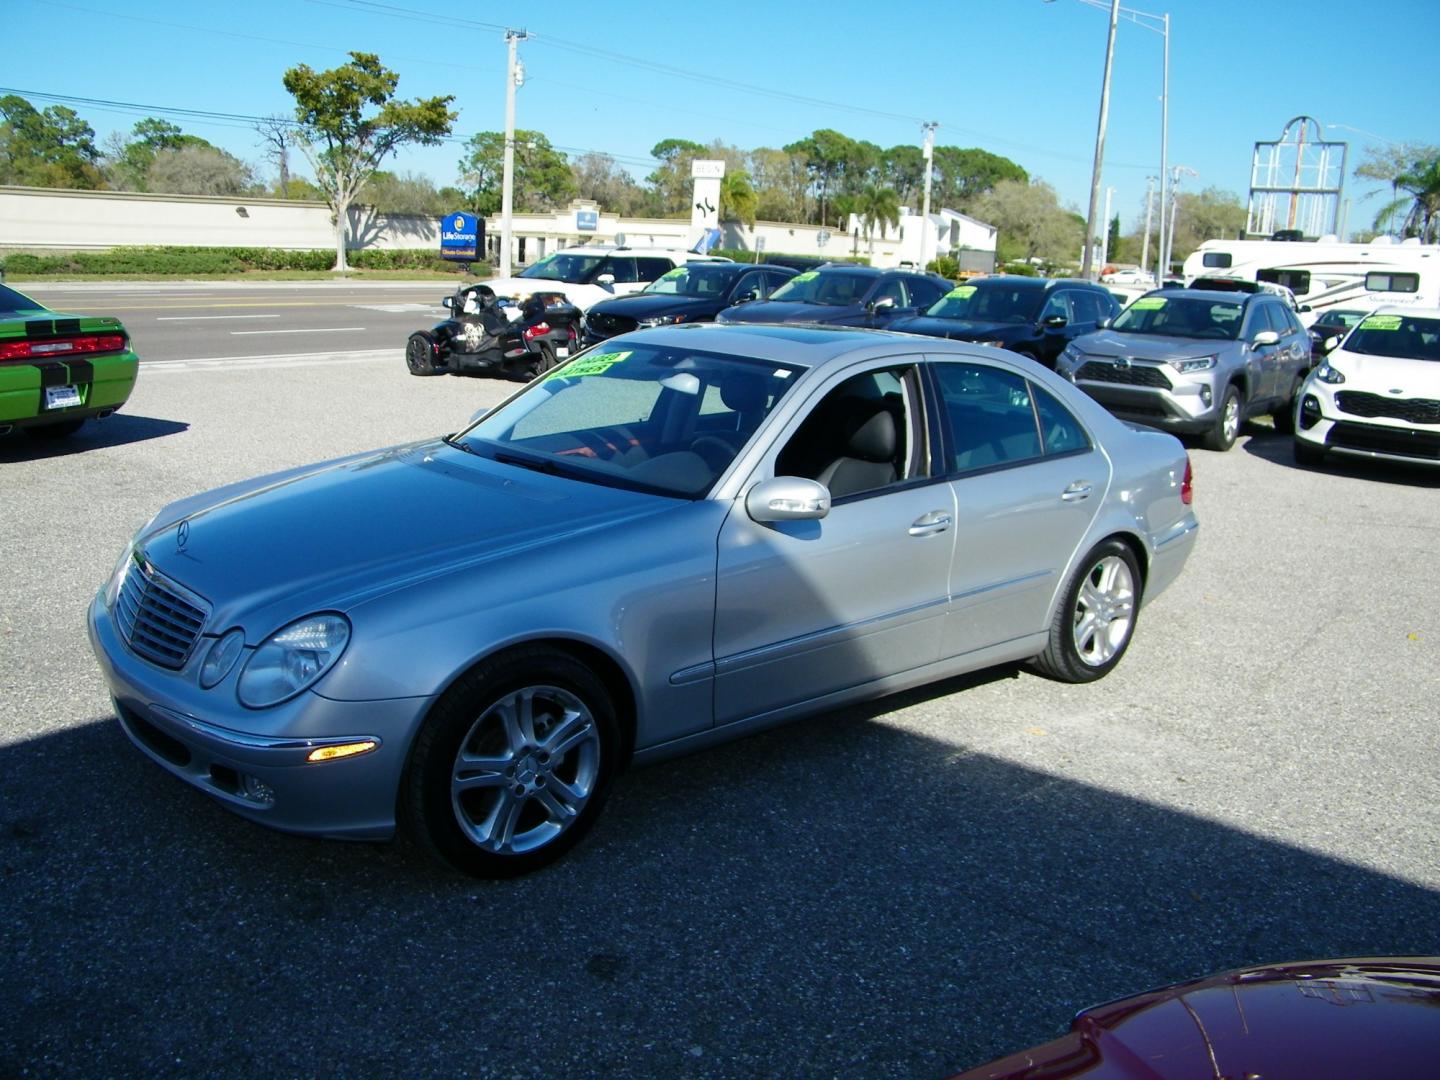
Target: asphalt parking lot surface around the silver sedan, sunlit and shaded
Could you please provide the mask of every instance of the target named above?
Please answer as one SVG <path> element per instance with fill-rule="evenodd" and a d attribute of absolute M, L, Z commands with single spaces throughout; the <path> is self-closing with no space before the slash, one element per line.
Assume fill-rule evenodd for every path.
<path fill-rule="evenodd" d="M 1440 953 L 1440 474 L 1260 426 L 1192 451 L 1200 546 L 1112 677 L 634 772 L 530 878 L 262 829 L 127 743 L 85 606 L 132 528 L 513 389 L 399 343 L 157 363 L 0 441 L 0 1076 L 939 1077 L 1156 984 Z"/>

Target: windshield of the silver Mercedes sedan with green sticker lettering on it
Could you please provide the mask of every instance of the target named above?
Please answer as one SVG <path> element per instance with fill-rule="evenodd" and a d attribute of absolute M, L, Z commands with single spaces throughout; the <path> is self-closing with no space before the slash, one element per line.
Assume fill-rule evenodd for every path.
<path fill-rule="evenodd" d="M 456 444 L 539 472 L 698 498 L 795 374 L 690 348 L 592 350 L 482 416 Z"/>

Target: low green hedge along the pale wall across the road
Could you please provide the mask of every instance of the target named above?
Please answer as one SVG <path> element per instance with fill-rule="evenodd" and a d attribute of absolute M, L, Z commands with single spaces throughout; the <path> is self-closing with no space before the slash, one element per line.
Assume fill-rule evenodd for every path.
<path fill-rule="evenodd" d="M 413 269 L 456 272 L 458 265 L 429 251 L 350 252 L 356 269 Z M 245 274 L 246 271 L 328 271 L 334 251 L 282 251 L 279 248 L 111 248 L 63 255 L 13 252 L 4 256 L 9 274 Z M 475 272 L 482 264 L 472 266 Z"/>

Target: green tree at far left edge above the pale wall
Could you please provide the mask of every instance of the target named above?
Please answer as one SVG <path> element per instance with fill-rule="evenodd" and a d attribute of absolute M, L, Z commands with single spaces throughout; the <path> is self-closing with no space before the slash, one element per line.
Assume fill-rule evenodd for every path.
<path fill-rule="evenodd" d="M 105 186 L 98 166 L 95 130 L 73 109 L 0 98 L 0 183 L 94 190 Z"/>

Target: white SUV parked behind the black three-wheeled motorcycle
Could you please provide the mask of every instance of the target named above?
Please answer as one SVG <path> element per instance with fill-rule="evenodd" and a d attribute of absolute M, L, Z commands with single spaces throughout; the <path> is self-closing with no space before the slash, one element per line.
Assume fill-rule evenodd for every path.
<path fill-rule="evenodd" d="M 491 278 L 480 284 L 517 305 L 534 292 L 563 292 L 566 300 L 585 311 L 602 300 L 639 292 L 675 266 L 694 261 L 729 262 L 670 248 L 582 245 L 546 255 L 513 278 Z"/>

